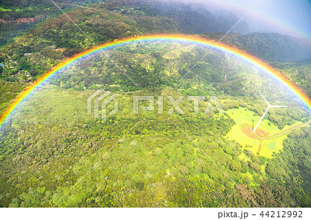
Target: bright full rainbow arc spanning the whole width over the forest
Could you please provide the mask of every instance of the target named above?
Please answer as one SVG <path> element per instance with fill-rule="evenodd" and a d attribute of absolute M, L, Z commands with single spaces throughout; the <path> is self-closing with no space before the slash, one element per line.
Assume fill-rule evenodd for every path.
<path fill-rule="evenodd" d="M 194 43 L 198 44 L 200 46 L 207 46 L 207 47 L 214 47 L 216 50 L 220 50 L 225 53 L 229 53 L 234 55 L 235 57 L 238 57 L 239 59 L 246 61 L 247 63 L 252 64 L 253 66 L 256 66 L 257 68 L 260 68 L 261 70 L 267 72 L 267 74 L 270 74 L 272 77 L 277 79 L 279 82 L 283 83 L 287 88 L 289 88 L 294 94 L 296 94 L 301 101 L 305 104 L 307 108 L 311 110 L 311 100 L 310 98 L 303 93 L 298 86 L 296 86 L 294 83 L 292 83 L 288 78 L 284 77 L 281 72 L 275 70 L 271 66 L 269 66 L 267 63 L 264 63 L 260 59 L 257 59 L 256 57 L 253 57 L 252 55 L 247 54 L 246 52 L 243 52 L 242 50 L 238 50 L 237 48 L 232 48 L 231 46 L 227 46 L 223 43 L 217 43 L 216 41 L 211 41 L 208 39 L 204 39 L 201 37 L 196 37 L 193 35 L 185 35 L 185 34 L 152 34 L 152 35 L 144 35 L 139 37 L 128 37 L 125 39 L 117 39 L 115 41 L 111 41 L 108 43 L 104 43 L 100 45 L 99 47 L 91 48 L 89 50 L 86 50 L 82 53 L 76 54 L 74 57 L 71 57 L 70 59 L 67 59 L 66 61 L 59 63 L 57 66 L 55 66 L 50 71 L 46 72 L 43 76 L 41 76 L 35 83 L 32 83 L 26 90 L 23 90 L 15 101 L 10 104 L 10 106 L 6 109 L 6 111 L 1 115 L 0 117 L 0 127 L 3 125 L 3 123 L 10 117 L 12 112 L 19 106 L 20 103 L 22 103 L 28 95 L 38 88 L 44 81 L 49 79 L 55 72 L 62 70 L 62 68 L 68 66 L 70 63 L 73 63 L 74 61 L 77 61 L 78 59 L 81 59 L 82 57 L 85 57 L 88 54 L 92 54 L 93 52 L 97 52 L 102 49 L 109 49 L 111 47 L 115 46 L 122 46 L 127 43 L 135 43 L 138 41 L 183 41 L 185 43 Z"/>

